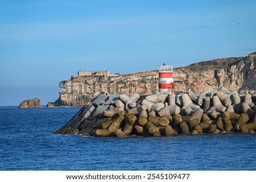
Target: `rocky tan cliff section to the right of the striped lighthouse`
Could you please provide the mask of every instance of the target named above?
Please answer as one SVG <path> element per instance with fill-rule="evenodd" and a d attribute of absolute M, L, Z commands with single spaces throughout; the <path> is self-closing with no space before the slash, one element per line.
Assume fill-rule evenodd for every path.
<path fill-rule="evenodd" d="M 176 74 L 188 75 L 186 91 L 202 92 L 220 87 L 238 90 L 248 87 L 256 89 L 256 52 L 246 57 L 222 58 L 203 61 L 176 69 Z M 175 88 L 186 88 L 184 83 L 176 83 Z M 179 89 L 176 89 L 176 91 Z"/>

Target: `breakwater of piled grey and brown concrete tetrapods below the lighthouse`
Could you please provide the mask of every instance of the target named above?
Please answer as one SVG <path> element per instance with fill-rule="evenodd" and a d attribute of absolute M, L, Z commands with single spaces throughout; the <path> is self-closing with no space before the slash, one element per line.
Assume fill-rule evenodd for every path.
<path fill-rule="evenodd" d="M 93 137 L 255 133 L 254 91 L 140 96 L 100 94 L 55 134 Z"/>

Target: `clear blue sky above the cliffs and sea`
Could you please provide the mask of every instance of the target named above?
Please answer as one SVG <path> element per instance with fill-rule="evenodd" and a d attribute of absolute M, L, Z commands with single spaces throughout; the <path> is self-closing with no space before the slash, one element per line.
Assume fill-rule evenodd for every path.
<path fill-rule="evenodd" d="M 246 56 L 256 51 L 255 19 L 249 0 L 0 0 L 0 105 L 40 98 L 42 87 L 51 88 L 43 104 L 54 101 L 80 69 L 122 74 Z"/>

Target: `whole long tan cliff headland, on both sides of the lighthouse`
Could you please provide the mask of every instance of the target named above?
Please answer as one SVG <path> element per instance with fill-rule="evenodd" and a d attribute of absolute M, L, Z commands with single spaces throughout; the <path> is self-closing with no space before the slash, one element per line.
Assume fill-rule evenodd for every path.
<path fill-rule="evenodd" d="M 203 61 L 174 69 L 175 92 L 203 92 L 220 87 L 238 90 L 248 87 L 256 90 L 256 52 L 246 57 Z M 55 106 L 90 104 L 101 92 L 109 94 L 149 95 L 158 91 L 158 71 L 133 74 L 85 75 L 63 82 Z"/>

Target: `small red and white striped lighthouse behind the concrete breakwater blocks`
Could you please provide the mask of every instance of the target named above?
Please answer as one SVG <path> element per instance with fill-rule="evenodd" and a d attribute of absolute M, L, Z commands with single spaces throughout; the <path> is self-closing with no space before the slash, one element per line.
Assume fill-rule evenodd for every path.
<path fill-rule="evenodd" d="M 174 92 L 174 79 L 172 66 L 158 66 L 159 73 L 159 92 L 160 94 L 172 94 Z"/>

